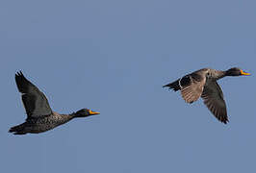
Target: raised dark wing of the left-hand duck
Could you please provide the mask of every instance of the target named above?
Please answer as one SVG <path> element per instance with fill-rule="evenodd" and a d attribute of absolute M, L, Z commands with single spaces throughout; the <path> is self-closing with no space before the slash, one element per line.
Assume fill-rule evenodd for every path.
<path fill-rule="evenodd" d="M 21 71 L 15 74 L 15 81 L 19 92 L 22 94 L 21 98 L 28 118 L 49 115 L 52 113 L 45 95 L 37 86 L 34 86 L 28 81 Z"/>

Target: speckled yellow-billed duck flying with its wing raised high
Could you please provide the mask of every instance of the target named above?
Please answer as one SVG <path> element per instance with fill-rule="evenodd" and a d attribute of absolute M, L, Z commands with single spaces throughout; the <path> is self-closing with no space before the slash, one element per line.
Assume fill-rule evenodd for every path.
<path fill-rule="evenodd" d="M 88 109 L 82 109 L 70 114 L 60 114 L 52 111 L 46 96 L 37 86 L 28 81 L 21 71 L 15 74 L 15 82 L 19 92 L 21 92 L 27 119 L 24 123 L 14 126 L 9 130 L 14 135 L 38 134 L 54 129 L 76 117 L 88 117 L 99 114 L 97 111 L 90 111 Z"/>

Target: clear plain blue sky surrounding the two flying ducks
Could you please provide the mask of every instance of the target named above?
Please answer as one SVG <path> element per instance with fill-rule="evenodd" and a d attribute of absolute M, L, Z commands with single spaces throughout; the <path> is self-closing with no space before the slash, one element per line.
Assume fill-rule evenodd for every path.
<path fill-rule="evenodd" d="M 256 171 L 256 1 L 0 1 L 0 172 Z M 222 87 L 230 123 L 163 85 L 203 67 L 239 66 Z M 14 74 L 51 108 L 82 108 L 39 135 L 13 136 L 25 110 Z"/>

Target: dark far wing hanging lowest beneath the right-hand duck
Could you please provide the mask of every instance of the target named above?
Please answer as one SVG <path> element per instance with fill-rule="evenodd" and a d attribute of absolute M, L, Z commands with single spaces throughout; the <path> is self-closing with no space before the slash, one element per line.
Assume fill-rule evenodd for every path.
<path fill-rule="evenodd" d="M 223 98 L 223 92 L 216 81 L 208 81 L 204 86 L 202 99 L 206 107 L 224 124 L 228 122 L 226 104 Z"/>

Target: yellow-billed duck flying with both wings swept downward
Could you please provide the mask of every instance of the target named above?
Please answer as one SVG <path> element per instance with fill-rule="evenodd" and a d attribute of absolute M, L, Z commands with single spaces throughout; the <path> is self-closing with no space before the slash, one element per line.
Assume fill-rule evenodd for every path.
<path fill-rule="evenodd" d="M 180 90 L 183 99 L 192 103 L 201 97 L 206 107 L 224 124 L 228 122 L 226 104 L 223 93 L 217 81 L 225 76 L 247 76 L 249 73 L 234 67 L 226 71 L 211 68 L 203 68 L 188 74 L 173 83 L 163 87 L 169 87 L 174 91 Z"/>

